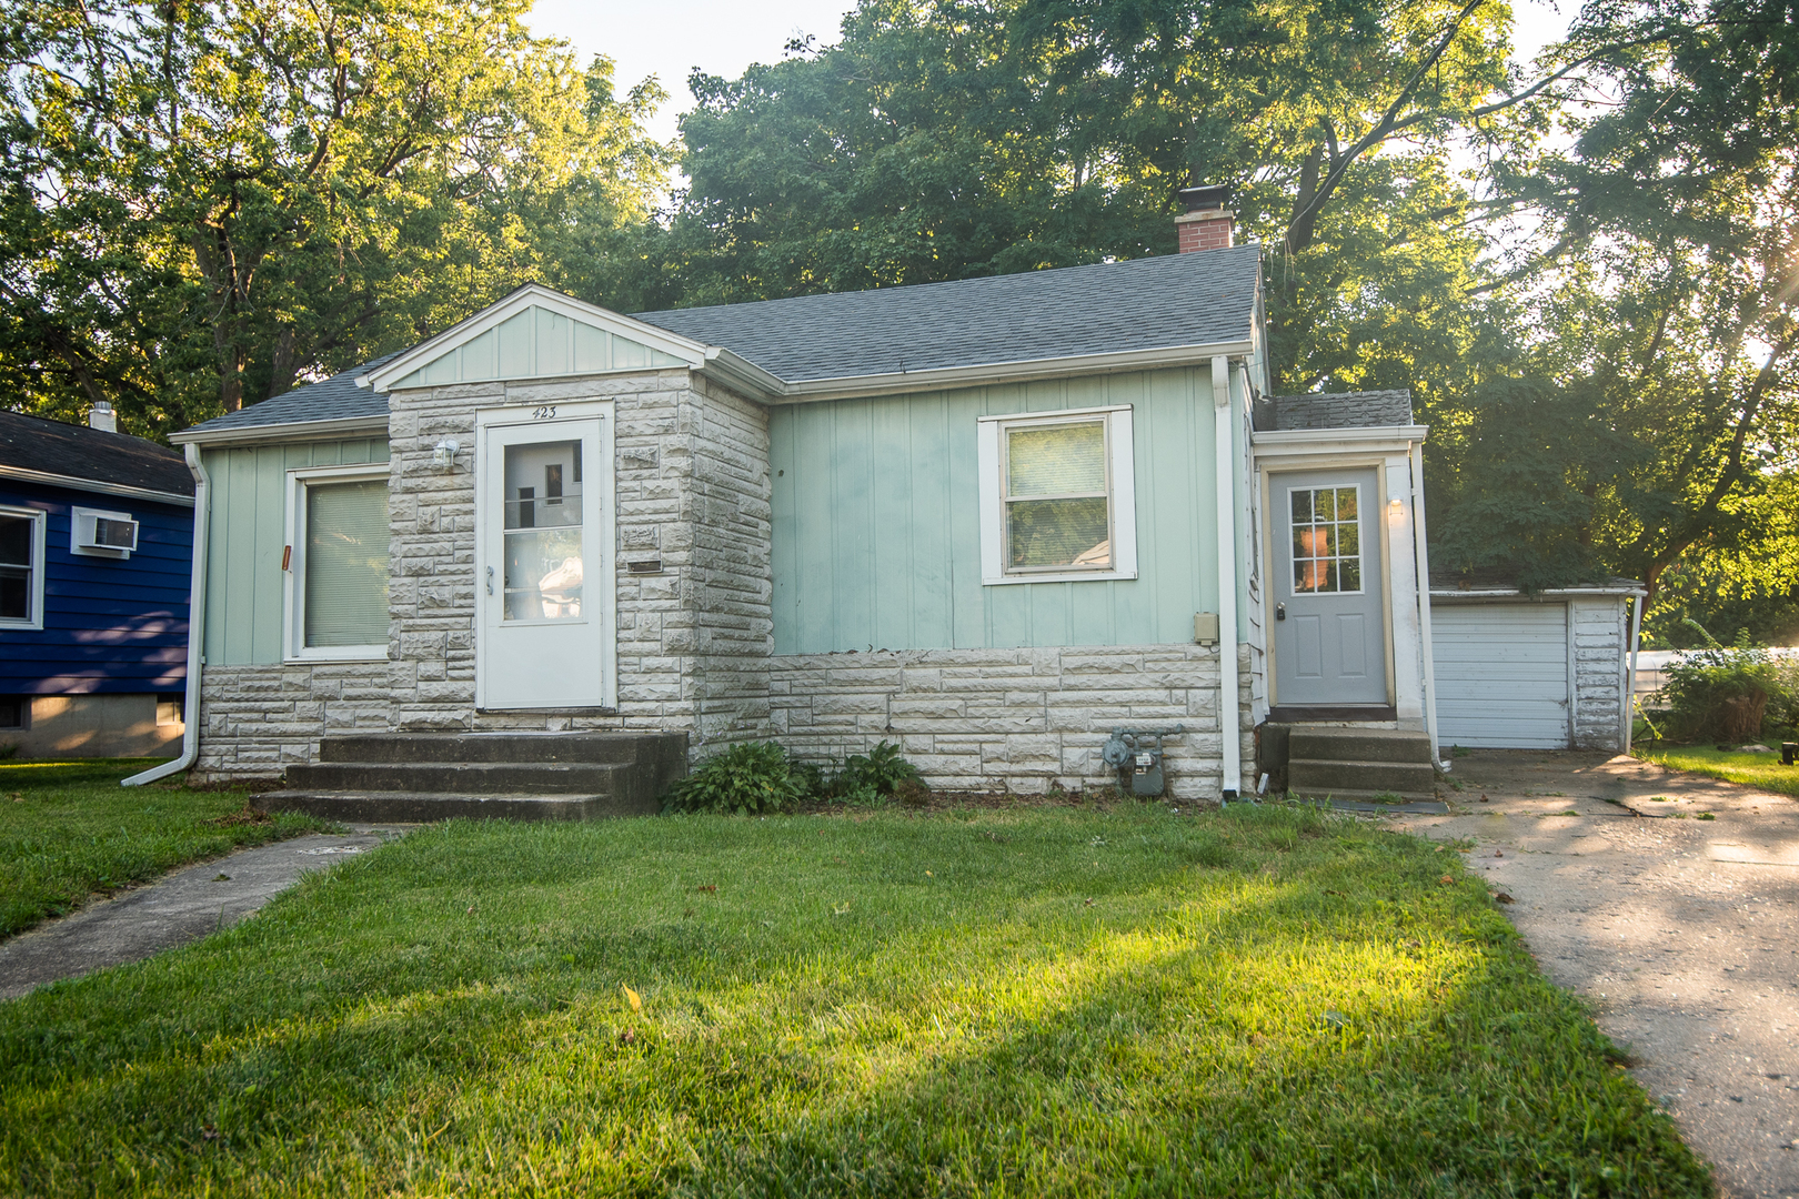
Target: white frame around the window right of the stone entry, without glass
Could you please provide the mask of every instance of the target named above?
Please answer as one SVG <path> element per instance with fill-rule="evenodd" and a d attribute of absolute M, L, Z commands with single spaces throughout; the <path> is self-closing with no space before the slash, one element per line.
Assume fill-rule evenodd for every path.
<path fill-rule="evenodd" d="M 1007 430 L 1079 424 L 1103 417 L 1106 424 L 1106 485 L 1112 511 L 1112 566 L 1094 570 L 1007 570 L 1004 439 Z M 975 453 L 980 464 L 980 582 L 1108 582 L 1137 577 L 1137 460 L 1132 439 L 1132 406 L 1058 408 L 979 417 Z"/>

